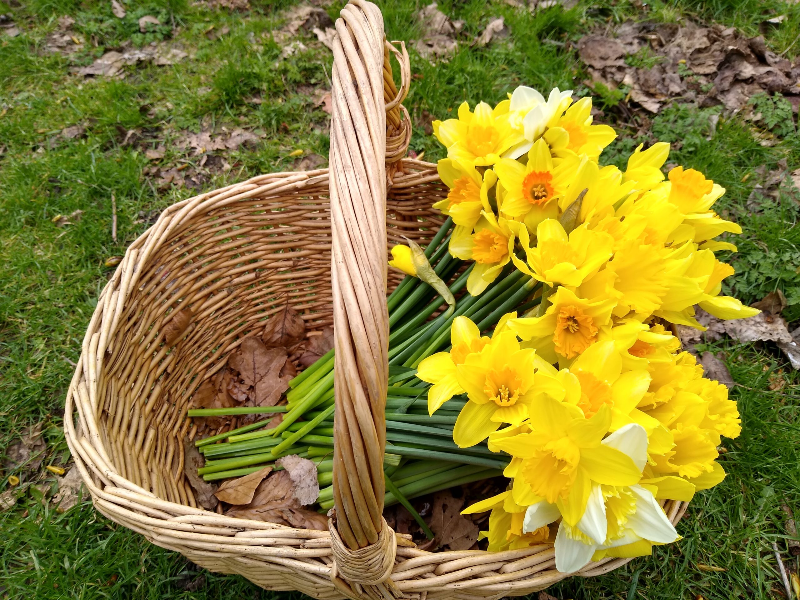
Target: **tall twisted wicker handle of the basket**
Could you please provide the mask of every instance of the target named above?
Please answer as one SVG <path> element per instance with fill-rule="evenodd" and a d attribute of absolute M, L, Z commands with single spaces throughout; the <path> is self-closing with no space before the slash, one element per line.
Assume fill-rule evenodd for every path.
<path fill-rule="evenodd" d="M 335 511 L 330 531 L 334 583 L 346 585 L 343 593 L 355 597 L 362 594 L 349 583 L 356 590 L 394 587 L 390 580 L 382 584 L 394 565 L 396 545 L 382 518 L 389 374 L 386 161 L 406 153 L 410 119 L 400 102 L 410 71 L 405 47 L 395 50 L 385 42 L 381 12 L 371 2 L 351 0 L 336 31 L 330 135 Z M 390 52 L 401 58 L 400 90 L 394 86 Z"/>

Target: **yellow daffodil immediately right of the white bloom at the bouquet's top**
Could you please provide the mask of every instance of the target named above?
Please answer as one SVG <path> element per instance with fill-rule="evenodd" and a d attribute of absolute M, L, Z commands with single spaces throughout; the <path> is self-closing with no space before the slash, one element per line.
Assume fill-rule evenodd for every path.
<path fill-rule="evenodd" d="M 592 125 L 592 99 L 581 98 L 545 132 L 544 138 L 553 154 L 562 157 L 570 152 L 586 154 L 594 161 L 602 149 L 617 137 L 607 125 Z"/>

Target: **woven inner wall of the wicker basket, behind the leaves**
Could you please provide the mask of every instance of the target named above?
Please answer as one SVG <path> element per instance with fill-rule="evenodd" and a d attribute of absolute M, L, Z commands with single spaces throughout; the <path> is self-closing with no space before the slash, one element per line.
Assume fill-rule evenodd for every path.
<path fill-rule="evenodd" d="M 446 187 L 430 175 L 433 165 L 416 166 L 428 175 L 414 174 L 409 164 L 396 178 L 398 186 L 390 187 L 389 246 L 404 237 L 424 245 L 444 221 L 430 206 L 446 196 Z M 99 430 L 123 477 L 159 498 L 197 506 L 183 474 L 191 394 L 225 365 L 246 334 L 260 333 L 266 318 L 286 303 L 301 314 L 308 332 L 332 324 L 327 194 L 324 173 L 233 203 L 214 202 L 211 193 L 202 211 L 174 224 L 140 263 L 137 286 L 98 373 L 104 399 Z M 390 270 L 389 290 L 401 279 Z M 191 322 L 169 347 L 164 325 L 187 306 Z"/>

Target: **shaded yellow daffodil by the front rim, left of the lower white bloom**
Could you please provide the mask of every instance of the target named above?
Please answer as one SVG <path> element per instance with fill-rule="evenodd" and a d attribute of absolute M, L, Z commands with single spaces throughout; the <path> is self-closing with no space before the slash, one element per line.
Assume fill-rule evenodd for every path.
<path fill-rule="evenodd" d="M 527 508 L 527 506 L 520 506 L 514 502 L 510 490 L 506 490 L 501 494 L 476 502 L 462 510 L 462 514 L 478 514 L 491 510 L 489 530 L 482 531 L 479 539 L 489 539 L 487 550 L 490 552 L 502 552 L 503 550 L 528 548 L 547 542 L 550 538 L 550 527 L 547 524 L 523 533 L 522 526 Z"/>

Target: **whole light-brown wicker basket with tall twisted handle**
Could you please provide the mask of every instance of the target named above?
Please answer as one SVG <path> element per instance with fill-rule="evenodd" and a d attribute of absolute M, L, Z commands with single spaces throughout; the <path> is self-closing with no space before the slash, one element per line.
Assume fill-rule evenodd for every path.
<path fill-rule="evenodd" d="M 566 577 L 554 569 L 550 544 L 431 553 L 382 519 L 386 250 L 403 236 L 430 239 L 442 223 L 430 206 L 446 187 L 434 164 L 402 158 L 408 56 L 385 41 L 380 11 L 354 0 L 336 30 L 330 170 L 262 175 L 179 202 L 128 248 L 98 300 L 66 396 L 75 464 L 106 517 L 266 589 L 430 599 L 542 590 Z M 194 390 L 287 300 L 309 330 L 334 324 L 336 509 L 328 531 L 203 510 L 183 474 Z M 186 306 L 193 321 L 170 347 L 165 326 Z M 667 502 L 665 510 L 675 523 L 686 506 Z M 627 560 L 590 563 L 578 574 Z"/>

